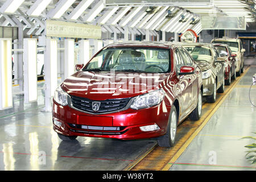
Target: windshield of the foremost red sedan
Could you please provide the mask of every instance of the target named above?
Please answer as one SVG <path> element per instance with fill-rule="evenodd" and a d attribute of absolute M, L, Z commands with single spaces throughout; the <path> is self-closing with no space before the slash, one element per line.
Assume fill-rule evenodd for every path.
<path fill-rule="evenodd" d="M 170 71 L 170 51 L 160 48 L 106 48 L 83 71 L 166 73 Z"/>

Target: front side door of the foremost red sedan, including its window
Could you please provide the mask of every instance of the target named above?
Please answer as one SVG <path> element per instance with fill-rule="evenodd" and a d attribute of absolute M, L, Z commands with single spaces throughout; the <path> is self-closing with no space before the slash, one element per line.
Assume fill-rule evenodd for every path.
<path fill-rule="evenodd" d="M 181 56 L 180 50 L 177 48 L 174 51 L 174 59 L 176 63 L 176 73 L 180 72 L 180 68 L 185 65 L 183 56 Z M 189 75 L 178 75 L 179 82 L 177 83 L 176 90 L 181 102 L 180 120 L 183 119 L 189 112 L 189 106 L 191 105 L 191 93 L 192 93 L 192 80 Z"/>

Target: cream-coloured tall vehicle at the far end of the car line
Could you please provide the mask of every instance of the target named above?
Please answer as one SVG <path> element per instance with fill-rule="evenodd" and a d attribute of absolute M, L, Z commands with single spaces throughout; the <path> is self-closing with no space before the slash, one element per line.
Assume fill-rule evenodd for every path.
<path fill-rule="evenodd" d="M 236 56 L 236 76 L 240 76 L 243 73 L 243 68 L 245 67 L 243 61 L 243 53 L 245 49 L 242 46 L 241 39 L 233 39 L 233 38 L 217 38 L 213 39 L 210 43 L 217 43 L 217 44 L 228 44 L 230 47 L 232 54 Z"/>

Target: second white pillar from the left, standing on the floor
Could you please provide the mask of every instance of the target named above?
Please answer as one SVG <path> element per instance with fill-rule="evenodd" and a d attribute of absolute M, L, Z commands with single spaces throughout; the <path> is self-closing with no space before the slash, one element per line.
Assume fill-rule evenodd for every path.
<path fill-rule="evenodd" d="M 38 100 L 37 40 L 23 40 L 24 103 Z"/>

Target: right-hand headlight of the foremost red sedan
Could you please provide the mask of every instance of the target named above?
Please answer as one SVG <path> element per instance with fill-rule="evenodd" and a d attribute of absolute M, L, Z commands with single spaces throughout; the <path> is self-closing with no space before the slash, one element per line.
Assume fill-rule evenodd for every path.
<path fill-rule="evenodd" d="M 135 97 L 132 109 L 142 109 L 160 104 L 163 101 L 164 92 L 162 89 Z"/>

